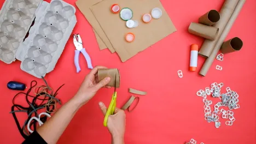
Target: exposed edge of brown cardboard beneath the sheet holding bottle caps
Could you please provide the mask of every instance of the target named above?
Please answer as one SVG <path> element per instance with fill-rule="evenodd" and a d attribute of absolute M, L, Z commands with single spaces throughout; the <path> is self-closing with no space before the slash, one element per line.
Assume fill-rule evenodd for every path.
<path fill-rule="evenodd" d="M 97 41 L 98 41 L 98 45 L 100 46 L 100 49 L 105 49 L 106 47 L 108 47 L 108 49 L 113 53 L 115 52 L 115 50 L 113 49 L 113 46 L 111 45 L 110 41 L 108 40 L 106 34 L 104 33 L 104 31 L 102 30 L 100 24 L 97 22 L 97 20 L 95 19 L 94 15 L 92 14 L 90 7 L 98 2 L 101 2 L 102 0 L 78 0 L 75 4 L 77 5 L 77 7 L 79 8 L 79 10 L 83 13 L 83 15 L 86 17 L 86 19 L 88 20 L 88 22 L 91 24 L 91 26 L 94 28 L 94 30 L 96 31 L 96 33 L 98 34 L 98 36 L 101 38 L 101 40 L 99 40 L 99 37 L 97 37 Z M 102 44 L 104 43 L 104 44 Z"/>

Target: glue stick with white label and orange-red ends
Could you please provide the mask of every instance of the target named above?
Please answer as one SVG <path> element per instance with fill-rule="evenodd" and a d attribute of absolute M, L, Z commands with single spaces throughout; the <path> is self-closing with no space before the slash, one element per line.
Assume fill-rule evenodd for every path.
<path fill-rule="evenodd" d="M 193 44 L 191 45 L 189 71 L 196 71 L 197 56 L 198 56 L 198 45 Z"/>

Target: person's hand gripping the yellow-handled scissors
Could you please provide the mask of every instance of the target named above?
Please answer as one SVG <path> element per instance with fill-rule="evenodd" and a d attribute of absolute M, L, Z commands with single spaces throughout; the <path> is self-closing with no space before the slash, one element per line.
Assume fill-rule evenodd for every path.
<path fill-rule="evenodd" d="M 106 115 L 107 107 L 102 103 L 98 103 L 103 115 Z M 115 108 L 114 115 L 108 117 L 107 127 L 112 135 L 113 139 L 124 139 L 125 133 L 125 112 L 123 110 Z"/>

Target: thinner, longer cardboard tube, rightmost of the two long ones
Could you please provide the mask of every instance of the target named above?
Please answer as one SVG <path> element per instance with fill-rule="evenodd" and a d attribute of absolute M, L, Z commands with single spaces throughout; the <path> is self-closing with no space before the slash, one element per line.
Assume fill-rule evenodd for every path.
<path fill-rule="evenodd" d="M 232 16 L 230 17 L 230 20 L 229 22 L 226 24 L 226 27 L 224 28 L 223 30 L 223 34 L 222 36 L 219 38 L 218 40 L 218 43 L 216 44 L 216 46 L 214 47 L 210 57 L 208 57 L 205 61 L 205 63 L 203 64 L 203 67 L 201 68 L 200 70 L 200 75 L 202 76 L 206 76 L 208 70 L 210 69 L 214 59 L 216 58 L 217 54 L 218 54 L 218 51 L 220 49 L 220 47 L 222 46 L 223 44 L 223 41 L 225 40 L 226 38 L 226 35 L 228 35 L 233 23 L 235 22 L 236 20 L 236 17 L 238 16 L 238 14 L 240 13 L 242 7 L 243 7 L 243 4 L 245 4 L 245 1 L 246 0 L 240 0 L 234 10 L 234 13 L 232 14 Z"/>

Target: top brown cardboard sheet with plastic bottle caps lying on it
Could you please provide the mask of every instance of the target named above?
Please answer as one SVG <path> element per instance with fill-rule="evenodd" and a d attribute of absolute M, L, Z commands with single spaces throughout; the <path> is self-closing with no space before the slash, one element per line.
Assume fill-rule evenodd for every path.
<path fill-rule="evenodd" d="M 109 8 L 114 3 L 118 3 L 120 8 L 130 8 L 133 11 L 132 20 L 138 21 L 139 26 L 132 29 L 127 28 L 125 26 L 126 21 L 121 20 L 120 15 L 113 14 L 110 11 Z M 151 13 L 154 8 L 160 8 L 162 16 L 158 20 L 154 19 L 150 23 L 144 23 L 142 16 Z M 93 5 L 91 10 L 122 62 L 176 31 L 159 0 L 104 0 Z M 127 43 L 125 40 L 125 34 L 127 33 L 135 35 L 135 40 L 132 43 Z"/>

